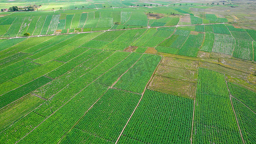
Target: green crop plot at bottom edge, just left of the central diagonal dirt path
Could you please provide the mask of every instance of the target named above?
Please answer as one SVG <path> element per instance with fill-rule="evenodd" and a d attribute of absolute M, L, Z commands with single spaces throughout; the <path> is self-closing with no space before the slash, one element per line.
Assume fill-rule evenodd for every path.
<path fill-rule="evenodd" d="M 63 139 L 62 143 L 70 142 L 115 142 L 122 128 L 131 116 L 141 95 L 109 89 L 88 111 L 79 123 Z M 98 115 L 97 117 L 95 117 Z M 76 130 L 75 130 L 76 129 Z M 78 131 L 78 133 L 73 131 Z M 86 139 L 81 135 L 92 135 L 95 139 Z M 108 134 L 106 134 L 108 133 Z"/>

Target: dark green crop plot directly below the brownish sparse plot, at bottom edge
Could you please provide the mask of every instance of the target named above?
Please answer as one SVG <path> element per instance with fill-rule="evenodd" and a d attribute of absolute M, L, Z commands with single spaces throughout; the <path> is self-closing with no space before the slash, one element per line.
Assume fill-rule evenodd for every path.
<path fill-rule="evenodd" d="M 192 99 L 146 90 L 118 144 L 190 144 L 192 116 Z"/>

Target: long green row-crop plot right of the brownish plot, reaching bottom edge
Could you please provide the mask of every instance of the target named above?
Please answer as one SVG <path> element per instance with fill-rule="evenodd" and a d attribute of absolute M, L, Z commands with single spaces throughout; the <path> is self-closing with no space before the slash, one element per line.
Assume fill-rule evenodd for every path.
<path fill-rule="evenodd" d="M 224 74 L 200 68 L 195 101 L 193 144 L 241 144 Z"/>

